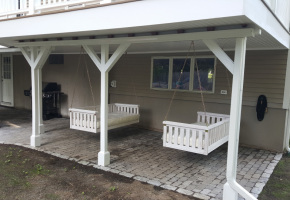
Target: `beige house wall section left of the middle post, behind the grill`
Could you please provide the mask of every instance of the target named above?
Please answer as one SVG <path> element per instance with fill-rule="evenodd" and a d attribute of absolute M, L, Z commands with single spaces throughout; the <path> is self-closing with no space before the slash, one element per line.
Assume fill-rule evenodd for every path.
<path fill-rule="evenodd" d="M 78 70 L 79 55 L 64 55 L 64 64 L 46 64 L 42 70 L 43 82 L 57 82 L 61 85 L 61 114 L 68 116 L 68 109 L 72 103 L 73 107 L 93 106 L 90 84 L 85 68 L 85 61 L 88 66 L 92 83 L 95 103 L 99 104 L 100 73 L 97 67 L 91 62 L 88 56 L 81 59 Z M 31 86 L 30 67 L 22 55 L 14 56 L 14 95 L 15 107 L 31 109 L 31 98 L 24 96 L 23 90 Z"/>

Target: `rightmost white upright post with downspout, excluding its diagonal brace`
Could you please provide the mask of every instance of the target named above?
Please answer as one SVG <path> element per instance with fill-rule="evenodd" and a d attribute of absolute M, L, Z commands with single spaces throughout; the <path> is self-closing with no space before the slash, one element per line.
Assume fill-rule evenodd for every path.
<path fill-rule="evenodd" d="M 247 200 L 256 200 L 236 182 L 239 149 L 240 122 L 242 110 L 245 56 L 247 38 L 236 39 L 233 87 L 230 113 L 230 133 L 227 158 L 227 183 L 224 185 L 223 200 L 237 200 L 238 194 Z"/>

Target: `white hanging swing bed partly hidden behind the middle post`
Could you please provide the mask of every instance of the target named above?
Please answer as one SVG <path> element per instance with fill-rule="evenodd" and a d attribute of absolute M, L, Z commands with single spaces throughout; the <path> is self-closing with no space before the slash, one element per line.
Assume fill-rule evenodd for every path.
<path fill-rule="evenodd" d="M 134 104 L 109 104 L 108 130 L 139 123 L 139 105 Z M 70 128 L 100 132 L 100 106 L 70 108 Z"/>

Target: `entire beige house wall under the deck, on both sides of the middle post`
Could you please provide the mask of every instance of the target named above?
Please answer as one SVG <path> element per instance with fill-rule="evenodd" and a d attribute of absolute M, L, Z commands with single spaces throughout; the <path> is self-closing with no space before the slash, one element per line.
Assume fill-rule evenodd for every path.
<path fill-rule="evenodd" d="M 233 52 L 228 52 L 233 58 Z M 116 80 L 117 87 L 109 89 L 111 103 L 133 103 L 140 105 L 140 126 L 162 130 L 162 121 L 168 110 L 172 91 L 150 89 L 151 57 L 179 56 L 184 54 L 143 54 L 124 55 L 110 71 L 109 80 Z M 202 53 L 201 55 L 211 55 Z M 96 104 L 99 104 L 100 73 L 97 67 L 85 56 Z M 73 107 L 93 105 L 89 81 L 84 62 L 78 70 L 79 55 L 64 55 L 63 65 L 45 64 L 44 82 L 57 82 L 61 85 L 61 114 L 68 116 L 75 88 Z M 240 143 L 259 148 L 282 151 L 286 111 L 282 109 L 284 82 L 286 74 L 287 51 L 248 51 L 243 96 Z M 77 74 L 77 75 L 76 75 Z M 214 94 L 204 94 L 206 110 L 229 114 L 231 74 L 218 61 Z M 228 81 L 229 80 L 229 81 Z M 15 107 L 31 109 L 31 99 L 25 97 L 23 90 L 31 85 L 30 67 L 21 55 L 14 55 L 14 95 Z M 221 95 L 220 90 L 228 90 Z M 256 102 L 259 95 L 268 98 L 269 111 L 265 119 L 256 118 Z M 168 120 L 195 122 L 196 112 L 202 111 L 199 93 L 177 92 Z"/>

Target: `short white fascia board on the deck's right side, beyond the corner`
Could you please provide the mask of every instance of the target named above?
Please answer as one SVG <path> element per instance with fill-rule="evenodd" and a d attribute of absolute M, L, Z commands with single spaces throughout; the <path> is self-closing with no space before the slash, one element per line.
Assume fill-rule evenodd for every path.
<path fill-rule="evenodd" d="M 253 23 L 272 35 L 283 46 L 289 49 L 290 37 L 283 26 L 260 0 L 244 0 L 244 11 Z"/>

